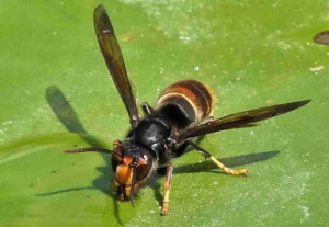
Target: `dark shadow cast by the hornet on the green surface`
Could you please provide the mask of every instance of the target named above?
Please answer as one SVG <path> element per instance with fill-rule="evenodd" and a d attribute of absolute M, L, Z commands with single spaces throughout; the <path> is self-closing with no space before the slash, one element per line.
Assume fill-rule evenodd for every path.
<path fill-rule="evenodd" d="M 46 100 L 58 117 L 58 120 L 61 122 L 61 124 L 67 128 L 70 133 L 78 134 L 86 143 L 88 143 L 91 147 L 105 147 L 105 144 L 91 135 L 88 134 L 88 132 L 84 129 L 82 123 L 80 122 L 77 113 L 70 105 L 69 101 L 66 99 L 64 93 L 60 91 L 60 89 L 57 86 L 48 87 L 46 90 Z M 200 144 L 203 137 L 200 137 L 195 143 Z M 229 158 L 222 158 L 219 159 L 220 162 L 223 162 L 227 167 L 238 167 L 238 166 L 245 166 L 250 164 L 253 162 L 260 162 L 265 161 L 268 159 L 271 159 L 279 155 L 280 151 L 265 151 L 265 152 L 258 152 L 258 154 L 249 154 L 249 155 L 242 155 L 242 156 L 236 156 L 236 157 L 229 157 Z M 48 193 L 41 193 L 37 194 L 37 196 L 47 196 L 47 195 L 55 195 L 60 193 L 67 193 L 72 191 L 81 191 L 81 190 L 100 190 L 106 195 L 110 195 L 114 200 L 114 213 L 115 217 L 118 220 L 121 225 L 123 225 L 122 220 L 120 219 L 118 215 L 118 205 L 116 203 L 116 195 L 113 192 L 113 190 L 110 190 L 110 182 L 113 180 L 113 173 L 111 171 L 111 156 L 100 154 L 106 166 L 105 167 L 97 167 L 97 170 L 102 173 L 101 177 L 98 179 L 94 179 L 92 184 L 93 186 L 81 186 L 81 188 L 71 188 L 71 189 L 64 189 L 59 191 L 48 192 Z M 214 170 L 216 169 L 216 170 Z M 216 167 L 211 161 L 205 162 L 196 162 L 192 164 L 184 164 L 174 168 L 175 174 L 182 174 L 182 173 L 191 173 L 191 172 L 213 172 L 213 173 L 219 173 L 223 174 L 224 172 L 217 171 L 218 167 Z M 161 188 L 162 185 L 156 181 L 158 175 L 163 175 L 164 171 L 159 169 L 158 174 L 156 174 L 147 184 L 144 186 L 150 186 L 154 190 L 155 197 L 161 204 L 162 195 L 161 195 Z"/>

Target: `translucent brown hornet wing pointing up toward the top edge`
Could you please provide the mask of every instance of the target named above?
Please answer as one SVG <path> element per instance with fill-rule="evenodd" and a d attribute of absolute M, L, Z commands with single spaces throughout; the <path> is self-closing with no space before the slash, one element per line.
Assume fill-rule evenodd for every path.
<path fill-rule="evenodd" d="M 94 30 L 98 36 L 100 48 L 111 72 L 112 79 L 123 100 L 134 125 L 139 120 L 136 99 L 126 72 L 124 59 L 114 34 L 113 26 L 103 5 L 99 5 L 93 14 Z"/>

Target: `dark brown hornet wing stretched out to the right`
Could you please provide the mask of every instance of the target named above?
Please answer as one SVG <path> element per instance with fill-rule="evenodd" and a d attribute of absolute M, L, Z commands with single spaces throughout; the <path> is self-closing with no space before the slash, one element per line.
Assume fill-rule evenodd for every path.
<path fill-rule="evenodd" d="M 285 104 L 254 109 L 250 111 L 243 111 L 240 113 L 224 116 L 222 118 L 205 124 L 195 125 L 188 129 L 180 130 L 177 136 L 177 141 L 180 143 L 188 138 L 202 136 L 219 130 L 254 126 L 254 122 L 259 122 L 265 118 L 287 113 L 309 102 L 310 100 L 304 100 L 298 102 L 291 102 Z"/>

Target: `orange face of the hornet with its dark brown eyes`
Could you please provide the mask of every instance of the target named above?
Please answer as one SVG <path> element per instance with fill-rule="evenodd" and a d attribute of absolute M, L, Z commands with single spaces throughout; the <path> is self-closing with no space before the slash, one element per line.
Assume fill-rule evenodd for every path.
<path fill-rule="evenodd" d="M 114 173 L 114 185 L 120 198 L 124 200 L 131 196 L 131 186 L 133 181 L 133 168 L 136 166 L 136 182 L 134 182 L 134 192 L 147 180 L 152 167 L 152 160 L 148 152 L 140 152 L 136 164 L 134 158 L 124 155 L 121 146 L 115 146 L 115 155 L 112 155 L 112 170 Z M 121 156 L 120 156 L 121 155 Z"/>

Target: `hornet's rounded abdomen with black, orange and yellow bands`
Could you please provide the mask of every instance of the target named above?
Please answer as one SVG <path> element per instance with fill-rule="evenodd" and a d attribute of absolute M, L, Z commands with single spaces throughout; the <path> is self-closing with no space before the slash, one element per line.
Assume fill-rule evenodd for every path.
<path fill-rule="evenodd" d="M 186 127 L 213 116 L 215 97 L 204 83 L 183 80 L 164 89 L 156 104 L 156 111 L 178 127 Z"/>

